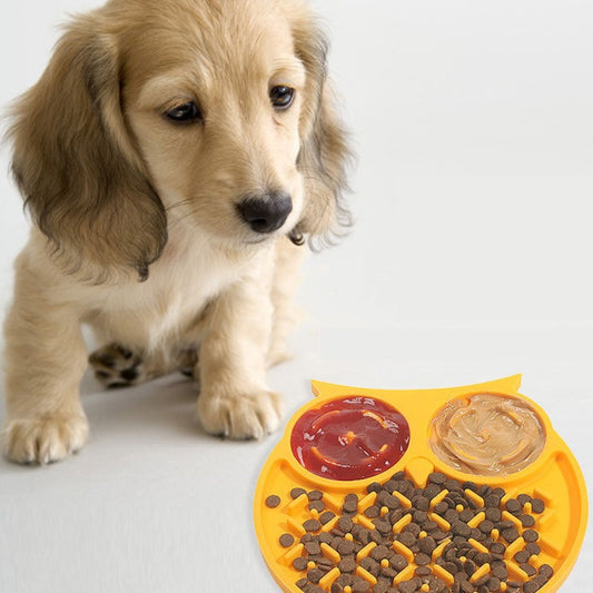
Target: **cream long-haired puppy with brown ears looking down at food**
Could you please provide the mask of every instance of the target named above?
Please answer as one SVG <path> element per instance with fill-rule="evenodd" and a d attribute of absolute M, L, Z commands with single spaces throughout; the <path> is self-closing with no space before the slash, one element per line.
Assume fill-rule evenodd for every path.
<path fill-rule="evenodd" d="M 349 224 L 327 47 L 302 0 L 110 0 L 68 24 L 9 129 L 33 223 L 4 324 L 9 459 L 83 446 L 89 360 L 106 386 L 191 374 L 213 435 L 278 427 L 266 373 L 304 244 Z"/>

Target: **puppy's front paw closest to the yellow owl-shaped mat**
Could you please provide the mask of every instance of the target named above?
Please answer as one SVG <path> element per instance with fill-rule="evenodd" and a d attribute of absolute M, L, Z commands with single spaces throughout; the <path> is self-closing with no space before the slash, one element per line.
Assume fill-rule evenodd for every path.
<path fill-rule="evenodd" d="M 281 398 L 267 391 L 243 395 L 201 393 L 198 417 L 207 433 L 236 439 L 261 438 L 278 428 Z"/>

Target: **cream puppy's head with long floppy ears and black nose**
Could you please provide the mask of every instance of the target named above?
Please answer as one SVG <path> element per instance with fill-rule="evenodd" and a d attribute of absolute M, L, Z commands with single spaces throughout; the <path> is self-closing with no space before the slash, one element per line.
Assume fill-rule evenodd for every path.
<path fill-rule="evenodd" d="M 111 0 L 16 105 L 13 171 L 68 260 L 148 276 L 175 225 L 240 249 L 344 221 L 327 43 L 299 0 Z"/>

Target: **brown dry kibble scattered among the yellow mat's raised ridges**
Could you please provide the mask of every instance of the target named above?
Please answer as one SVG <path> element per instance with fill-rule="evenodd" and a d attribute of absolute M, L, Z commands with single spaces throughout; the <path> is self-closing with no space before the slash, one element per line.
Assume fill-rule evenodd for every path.
<path fill-rule="evenodd" d="M 319 491 L 290 495 L 324 500 Z M 527 494 L 510 498 L 441 473 L 416 487 L 398 472 L 364 497 L 347 494 L 337 514 L 314 507 L 300 538 L 286 533 L 280 545 L 299 546 L 293 567 L 305 593 L 535 593 L 554 573 L 537 562 L 533 526 L 544 511 Z"/>

